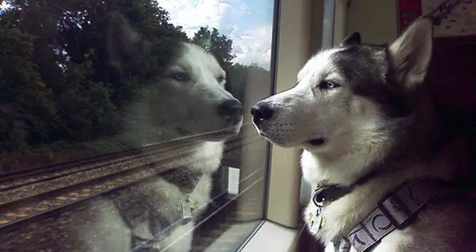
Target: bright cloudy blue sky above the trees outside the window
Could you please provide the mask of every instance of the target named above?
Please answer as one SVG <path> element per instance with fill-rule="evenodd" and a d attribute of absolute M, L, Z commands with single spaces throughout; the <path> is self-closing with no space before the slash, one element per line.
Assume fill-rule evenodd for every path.
<path fill-rule="evenodd" d="M 274 0 L 157 0 L 191 38 L 200 26 L 233 40 L 234 62 L 270 68 Z"/>

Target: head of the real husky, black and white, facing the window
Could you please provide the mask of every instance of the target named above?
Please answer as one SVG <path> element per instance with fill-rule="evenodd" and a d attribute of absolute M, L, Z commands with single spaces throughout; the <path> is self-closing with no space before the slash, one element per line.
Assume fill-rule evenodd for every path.
<path fill-rule="evenodd" d="M 428 18 L 389 45 L 362 44 L 353 33 L 311 57 L 295 87 L 252 107 L 257 131 L 278 146 L 323 153 L 359 144 L 362 134 L 372 141 L 384 133 L 377 127 L 414 112 L 411 97 L 426 75 L 432 36 Z"/>

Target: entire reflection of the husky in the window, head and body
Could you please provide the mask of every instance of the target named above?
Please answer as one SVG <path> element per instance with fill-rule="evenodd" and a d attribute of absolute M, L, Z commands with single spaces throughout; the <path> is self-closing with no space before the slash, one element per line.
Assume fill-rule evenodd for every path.
<path fill-rule="evenodd" d="M 194 220 L 210 202 L 224 142 L 242 126 L 242 104 L 225 91 L 225 77 L 210 53 L 181 43 L 161 80 L 129 107 L 123 141 L 141 146 L 193 135 L 186 155 L 158 167 L 173 169 L 146 182 L 35 224 L 31 229 L 45 231 L 11 251 L 190 251 Z M 18 233 L 32 234 L 23 229 Z"/>

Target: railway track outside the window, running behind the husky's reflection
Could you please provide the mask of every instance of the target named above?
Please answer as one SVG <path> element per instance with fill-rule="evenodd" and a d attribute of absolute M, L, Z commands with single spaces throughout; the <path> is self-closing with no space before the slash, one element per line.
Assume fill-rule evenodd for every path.
<path fill-rule="evenodd" d="M 235 138 L 227 143 L 225 151 L 260 140 L 250 136 Z M 193 151 L 190 148 L 188 150 L 184 148 L 184 143 L 181 143 L 180 146 L 177 146 L 177 143 L 175 146 L 173 144 L 160 148 L 155 146 L 155 151 L 153 146 L 147 146 L 145 148 L 151 148 L 147 150 L 148 153 L 142 152 L 139 155 L 134 153 L 132 158 L 131 156 L 112 158 L 113 164 L 110 163 L 111 161 L 109 164 L 105 164 L 104 162 L 107 160 L 102 157 L 95 159 L 100 165 L 92 165 L 94 161 L 88 162 L 87 160 L 83 160 L 84 162 L 81 163 L 84 165 L 82 168 L 72 168 L 72 164 L 67 163 L 63 166 L 64 170 L 61 170 L 61 166 L 58 165 L 53 168 L 55 170 L 50 177 L 45 177 L 48 176 L 45 172 L 51 171 L 50 168 L 40 170 L 40 172 L 32 171 L 12 175 L 11 181 L 16 181 L 16 184 L 11 184 L 8 189 L 0 192 L 0 229 L 21 223 L 26 219 L 40 217 L 48 212 L 105 192 L 112 192 L 121 187 L 151 179 L 161 172 L 171 169 L 167 167 L 167 164 L 180 160 Z M 124 152 L 121 153 L 124 155 Z M 117 156 L 114 155 L 114 157 Z M 129 166 L 124 162 L 129 162 Z M 110 165 L 116 165 L 118 168 L 112 168 Z M 92 172 L 95 175 L 86 175 L 87 172 Z M 34 174 L 37 174 L 38 177 L 34 177 Z M 18 182 L 21 179 L 23 179 L 23 184 Z M 21 190 L 26 193 L 21 195 Z"/>

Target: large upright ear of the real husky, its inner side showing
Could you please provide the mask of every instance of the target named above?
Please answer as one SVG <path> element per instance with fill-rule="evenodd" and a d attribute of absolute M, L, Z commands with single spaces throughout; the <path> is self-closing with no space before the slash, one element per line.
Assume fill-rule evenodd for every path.
<path fill-rule="evenodd" d="M 413 88 L 423 83 L 431 60 L 433 22 L 418 18 L 389 46 L 399 83 Z"/>

